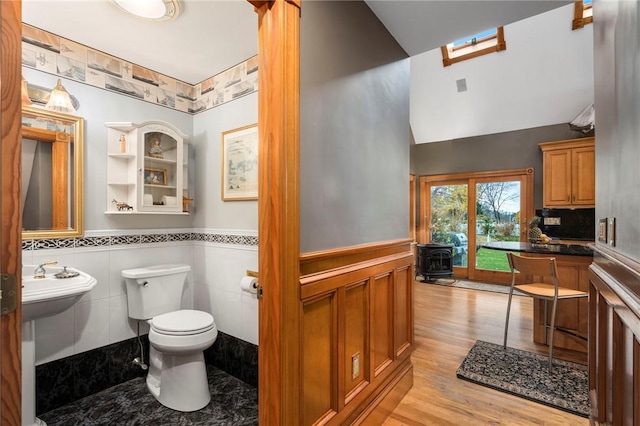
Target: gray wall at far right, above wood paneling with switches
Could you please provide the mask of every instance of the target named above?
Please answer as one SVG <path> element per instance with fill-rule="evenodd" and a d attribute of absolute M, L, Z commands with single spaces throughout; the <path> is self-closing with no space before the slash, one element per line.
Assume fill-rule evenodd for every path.
<path fill-rule="evenodd" d="M 615 217 L 615 250 L 640 261 L 640 3 L 593 9 L 596 219 Z"/>

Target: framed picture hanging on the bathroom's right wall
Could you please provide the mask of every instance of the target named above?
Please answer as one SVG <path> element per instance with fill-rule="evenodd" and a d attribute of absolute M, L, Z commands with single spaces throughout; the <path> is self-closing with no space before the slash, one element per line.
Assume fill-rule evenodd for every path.
<path fill-rule="evenodd" d="M 258 199 L 258 124 L 222 132 L 222 201 Z"/>

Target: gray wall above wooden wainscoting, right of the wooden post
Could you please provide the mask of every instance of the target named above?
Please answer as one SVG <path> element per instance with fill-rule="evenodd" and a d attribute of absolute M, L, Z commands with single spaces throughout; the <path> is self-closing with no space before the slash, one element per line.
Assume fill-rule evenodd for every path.
<path fill-rule="evenodd" d="M 301 252 L 407 238 L 409 60 L 362 1 L 300 22 Z"/>

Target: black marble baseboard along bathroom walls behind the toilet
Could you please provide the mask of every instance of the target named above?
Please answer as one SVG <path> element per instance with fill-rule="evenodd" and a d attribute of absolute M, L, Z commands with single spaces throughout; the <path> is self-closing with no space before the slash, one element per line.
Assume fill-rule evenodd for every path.
<path fill-rule="evenodd" d="M 149 359 L 148 335 L 140 336 L 145 362 Z M 258 346 L 219 332 L 204 353 L 205 362 L 258 386 Z M 140 356 L 137 338 L 103 346 L 36 367 L 36 413 L 62 407 L 104 389 L 146 375 L 133 364 Z"/>

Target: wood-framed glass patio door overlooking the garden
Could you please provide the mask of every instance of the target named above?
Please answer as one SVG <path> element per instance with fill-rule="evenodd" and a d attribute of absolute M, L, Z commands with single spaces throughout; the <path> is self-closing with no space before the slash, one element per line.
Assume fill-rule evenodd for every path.
<path fill-rule="evenodd" d="M 483 244 L 526 241 L 533 169 L 422 176 L 420 243 L 453 246 L 457 278 L 509 283 L 505 252 Z"/>

